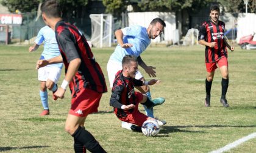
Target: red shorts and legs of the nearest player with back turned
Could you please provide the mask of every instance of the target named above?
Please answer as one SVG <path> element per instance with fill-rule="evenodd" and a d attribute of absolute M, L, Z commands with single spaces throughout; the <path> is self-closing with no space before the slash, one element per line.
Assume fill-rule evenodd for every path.
<path fill-rule="evenodd" d="M 93 135 L 85 128 L 85 118 L 88 114 L 98 112 L 101 93 L 90 89 L 80 89 L 76 97 L 71 100 L 71 109 L 65 124 L 65 131 L 74 137 L 75 151 L 105 152 Z"/>

